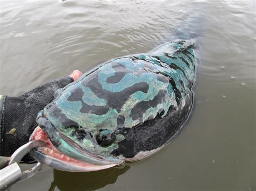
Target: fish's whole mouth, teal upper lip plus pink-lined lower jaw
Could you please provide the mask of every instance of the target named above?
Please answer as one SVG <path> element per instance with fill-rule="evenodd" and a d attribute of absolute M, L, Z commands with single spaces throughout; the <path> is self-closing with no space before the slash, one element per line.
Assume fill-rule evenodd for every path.
<path fill-rule="evenodd" d="M 90 172 L 124 163 L 124 160 L 116 157 L 92 154 L 73 143 L 71 146 L 68 138 L 64 138 L 48 119 L 40 114 L 37 122 L 39 126 L 33 131 L 30 140 L 42 140 L 45 146 L 33 148 L 30 154 L 43 164 L 61 171 Z"/>

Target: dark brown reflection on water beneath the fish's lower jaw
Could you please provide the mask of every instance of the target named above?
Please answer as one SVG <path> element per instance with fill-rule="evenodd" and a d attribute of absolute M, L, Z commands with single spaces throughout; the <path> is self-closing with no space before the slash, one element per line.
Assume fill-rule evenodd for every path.
<path fill-rule="evenodd" d="M 119 175 L 124 174 L 130 166 L 113 167 L 102 171 L 71 173 L 53 170 L 53 182 L 49 191 L 55 190 L 97 190 L 117 181 Z"/>

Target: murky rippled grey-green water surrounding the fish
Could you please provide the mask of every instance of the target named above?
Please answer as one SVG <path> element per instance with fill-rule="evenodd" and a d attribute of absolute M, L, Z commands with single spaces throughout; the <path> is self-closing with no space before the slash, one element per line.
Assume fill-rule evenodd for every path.
<path fill-rule="evenodd" d="M 255 1 L 1 2 L 0 94 L 150 51 L 204 6 L 194 109 L 169 146 L 99 172 L 44 166 L 10 190 L 255 190 Z"/>

